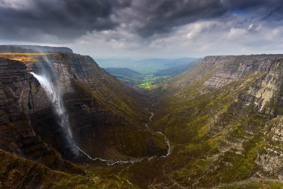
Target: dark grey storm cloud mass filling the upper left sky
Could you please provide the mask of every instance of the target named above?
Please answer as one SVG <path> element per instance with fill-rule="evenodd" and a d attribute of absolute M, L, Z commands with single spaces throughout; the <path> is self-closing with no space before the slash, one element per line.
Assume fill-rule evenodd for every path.
<path fill-rule="evenodd" d="M 13 1 L 12 1 L 13 2 Z M 22 3 L 0 0 L 1 38 L 34 38 L 40 34 L 77 38 L 87 31 L 113 29 L 119 23 L 109 16 L 130 1 L 30 0 Z M 16 5 L 16 6 L 15 6 Z"/>

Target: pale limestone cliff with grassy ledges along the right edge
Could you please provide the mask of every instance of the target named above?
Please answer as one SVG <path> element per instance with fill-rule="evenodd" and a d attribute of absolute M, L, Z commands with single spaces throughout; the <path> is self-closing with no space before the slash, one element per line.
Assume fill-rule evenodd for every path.
<path fill-rule="evenodd" d="M 266 173 L 282 180 L 283 59 L 256 57 L 248 59 L 246 65 L 249 62 L 249 71 L 238 77 L 241 81 L 237 84 L 239 90 L 230 90 L 234 93 L 230 96 L 231 105 L 228 104 L 227 109 L 220 111 L 219 117 L 212 119 L 207 134 L 215 138 L 223 133 L 218 149 L 224 154 L 236 150 L 236 153 L 247 156 L 248 151 L 256 149 L 254 162 Z M 208 86 L 213 86 L 213 82 L 208 83 Z M 225 161 L 226 158 L 220 159 Z"/>

